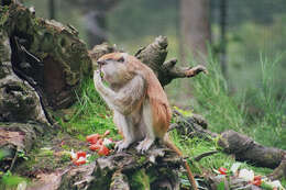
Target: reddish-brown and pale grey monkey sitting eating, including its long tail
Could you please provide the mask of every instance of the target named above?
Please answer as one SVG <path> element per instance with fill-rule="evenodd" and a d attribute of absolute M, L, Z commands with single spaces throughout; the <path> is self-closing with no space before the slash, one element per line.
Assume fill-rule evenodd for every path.
<path fill-rule="evenodd" d="M 118 152 L 141 141 L 136 149 L 144 153 L 155 138 L 160 138 L 182 156 L 180 150 L 168 139 L 172 112 L 167 96 L 151 68 L 127 53 L 107 54 L 97 63 L 99 70 L 94 72 L 96 89 L 113 110 L 113 122 L 123 136 L 116 145 Z M 197 189 L 186 161 L 185 167 L 193 187 Z"/>

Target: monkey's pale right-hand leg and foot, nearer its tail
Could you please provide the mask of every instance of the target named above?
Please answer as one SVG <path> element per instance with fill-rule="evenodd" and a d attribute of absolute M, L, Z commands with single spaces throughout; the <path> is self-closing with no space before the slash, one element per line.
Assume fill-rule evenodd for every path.
<path fill-rule="evenodd" d="M 153 131 L 152 110 L 150 102 L 146 100 L 143 104 L 143 125 L 145 130 L 145 138 L 140 142 L 136 149 L 138 152 L 146 152 L 155 141 L 155 134 Z"/>

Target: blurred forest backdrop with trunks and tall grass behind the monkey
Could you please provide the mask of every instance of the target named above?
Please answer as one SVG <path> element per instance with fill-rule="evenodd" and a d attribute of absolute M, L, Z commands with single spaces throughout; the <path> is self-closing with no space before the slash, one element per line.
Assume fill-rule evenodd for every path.
<path fill-rule="evenodd" d="M 265 145 L 286 148 L 286 0 L 23 3 L 35 7 L 38 16 L 75 26 L 89 48 L 108 41 L 134 54 L 157 35 L 166 35 L 168 58 L 177 57 L 184 66 L 205 64 L 210 71 L 218 66 L 222 70 L 205 83 L 202 75 L 173 81 L 166 89 L 172 104 L 195 109 L 215 131 L 239 128 Z"/>

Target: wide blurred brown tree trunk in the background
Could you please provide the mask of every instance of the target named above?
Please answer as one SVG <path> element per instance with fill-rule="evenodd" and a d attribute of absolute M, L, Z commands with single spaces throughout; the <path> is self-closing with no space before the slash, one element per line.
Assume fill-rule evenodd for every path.
<path fill-rule="evenodd" d="M 210 42 L 209 0 L 180 0 L 180 52 L 183 60 L 193 55 L 206 63 L 207 43 Z"/>

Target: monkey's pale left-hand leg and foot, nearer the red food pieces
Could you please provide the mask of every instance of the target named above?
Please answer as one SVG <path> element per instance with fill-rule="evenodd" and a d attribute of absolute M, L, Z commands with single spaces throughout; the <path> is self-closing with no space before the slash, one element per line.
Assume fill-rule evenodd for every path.
<path fill-rule="evenodd" d="M 117 143 L 116 149 L 122 152 L 135 141 L 134 126 L 125 115 L 122 115 L 117 111 L 114 111 L 113 121 L 123 135 L 123 139 Z"/>

